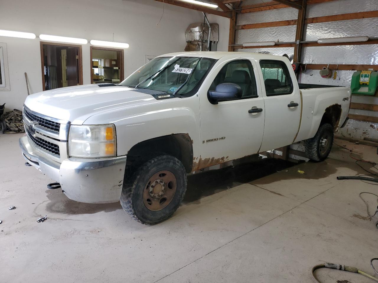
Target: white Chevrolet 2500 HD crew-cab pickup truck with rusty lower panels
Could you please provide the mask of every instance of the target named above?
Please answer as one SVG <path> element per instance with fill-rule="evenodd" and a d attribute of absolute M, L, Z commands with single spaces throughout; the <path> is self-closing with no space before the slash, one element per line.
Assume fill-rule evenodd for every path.
<path fill-rule="evenodd" d="M 119 85 L 30 95 L 19 143 L 68 198 L 121 201 L 133 219 L 153 224 L 178 208 L 187 173 L 303 140 L 308 158 L 324 160 L 350 95 L 298 85 L 286 57 L 165 54 Z"/>

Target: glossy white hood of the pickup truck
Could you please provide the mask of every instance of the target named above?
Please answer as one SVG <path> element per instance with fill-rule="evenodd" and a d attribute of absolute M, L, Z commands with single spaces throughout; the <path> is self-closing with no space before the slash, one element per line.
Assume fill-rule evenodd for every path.
<path fill-rule="evenodd" d="M 83 85 L 59 88 L 29 95 L 25 105 L 30 110 L 73 124 L 82 124 L 92 115 L 122 106 L 159 103 L 149 94 L 125 86 Z"/>

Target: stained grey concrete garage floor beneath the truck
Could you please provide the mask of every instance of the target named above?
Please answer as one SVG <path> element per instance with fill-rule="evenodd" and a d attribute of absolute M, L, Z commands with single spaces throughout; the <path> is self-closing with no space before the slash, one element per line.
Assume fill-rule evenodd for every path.
<path fill-rule="evenodd" d="M 334 146 L 321 163 L 265 159 L 192 175 L 174 216 L 147 226 L 119 203 L 77 203 L 46 189 L 51 180 L 24 166 L 19 137 L 0 135 L 1 282 L 303 283 L 324 261 L 373 274 L 378 218 L 369 221 L 358 194 L 378 187 L 336 176 L 364 174 L 350 156 L 378 162 L 376 148 L 336 140 L 354 152 Z M 363 197 L 373 213 L 376 198 Z M 369 282 L 317 274 L 322 282 Z"/>

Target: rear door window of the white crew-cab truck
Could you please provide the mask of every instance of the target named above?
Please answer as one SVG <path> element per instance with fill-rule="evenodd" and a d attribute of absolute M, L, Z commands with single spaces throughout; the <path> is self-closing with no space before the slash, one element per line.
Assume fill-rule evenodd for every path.
<path fill-rule="evenodd" d="M 260 60 L 266 95 L 283 95 L 293 92 L 290 73 L 282 61 Z"/>

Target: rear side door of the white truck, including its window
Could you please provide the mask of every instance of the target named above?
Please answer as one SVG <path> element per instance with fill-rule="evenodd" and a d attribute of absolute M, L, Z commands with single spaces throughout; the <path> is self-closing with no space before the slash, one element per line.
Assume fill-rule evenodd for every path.
<path fill-rule="evenodd" d="M 286 62 L 287 61 L 287 62 Z M 260 60 L 260 81 L 265 102 L 261 151 L 291 145 L 301 117 L 301 99 L 289 60 Z"/>

